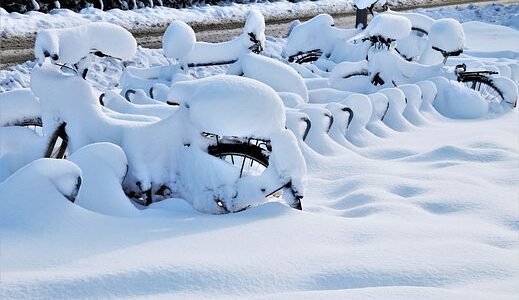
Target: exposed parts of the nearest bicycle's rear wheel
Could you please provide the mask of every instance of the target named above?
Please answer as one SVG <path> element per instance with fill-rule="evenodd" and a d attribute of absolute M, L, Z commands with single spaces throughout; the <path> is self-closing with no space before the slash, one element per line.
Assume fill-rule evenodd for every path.
<path fill-rule="evenodd" d="M 239 168 L 241 178 L 244 176 L 260 176 L 269 166 L 269 152 L 271 150 L 269 143 L 266 141 L 250 140 L 249 142 L 218 143 L 210 146 L 208 153 Z M 292 201 L 295 204 L 290 204 L 290 206 L 301 210 L 301 197 L 294 195 L 290 182 L 275 190 L 262 190 L 262 192 L 265 193 L 266 199 L 276 200 L 281 197 L 284 189 L 290 191 L 295 198 L 295 201 Z"/>

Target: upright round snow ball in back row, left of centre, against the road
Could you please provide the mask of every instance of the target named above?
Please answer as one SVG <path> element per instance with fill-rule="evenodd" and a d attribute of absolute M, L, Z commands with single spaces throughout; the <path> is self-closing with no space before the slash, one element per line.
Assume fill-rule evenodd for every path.
<path fill-rule="evenodd" d="M 195 46 L 195 31 L 182 21 L 173 21 L 162 37 L 164 55 L 182 60 Z"/>

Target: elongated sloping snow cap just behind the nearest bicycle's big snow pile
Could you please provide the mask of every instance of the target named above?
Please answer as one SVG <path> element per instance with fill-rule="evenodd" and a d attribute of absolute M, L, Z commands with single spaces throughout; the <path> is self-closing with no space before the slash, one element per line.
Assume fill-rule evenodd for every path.
<path fill-rule="evenodd" d="M 301 75 L 279 60 L 249 53 L 240 57 L 232 71 L 263 82 L 276 92 L 297 94 L 308 102 L 308 90 Z"/>

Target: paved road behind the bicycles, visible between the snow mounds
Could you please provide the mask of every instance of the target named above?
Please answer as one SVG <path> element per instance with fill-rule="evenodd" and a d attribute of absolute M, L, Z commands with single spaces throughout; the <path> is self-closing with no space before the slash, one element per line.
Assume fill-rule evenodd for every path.
<path fill-rule="evenodd" d="M 420 5 L 420 7 L 438 7 L 450 6 L 467 3 L 484 3 L 484 2 L 518 2 L 511 0 L 504 1 L 468 1 L 468 0 L 433 0 L 427 5 Z M 393 8 L 395 10 L 410 10 L 416 6 L 403 6 Z M 312 14 L 299 16 L 299 19 L 306 20 L 313 17 Z M 345 12 L 343 14 L 333 15 L 335 25 L 341 28 L 351 28 L 354 25 L 354 12 Z M 271 36 L 285 36 L 288 32 L 292 20 L 266 20 L 266 33 Z M 228 23 L 211 26 L 194 26 L 197 40 L 206 42 L 221 42 L 229 40 L 241 33 L 243 23 Z M 162 35 L 165 27 L 155 27 L 144 30 L 132 30 L 132 34 L 137 39 L 137 42 L 142 47 L 146 48 L 160 48 L 162 45 Z M 23 63 L 27 60 L 34 59 L 33 54 L 34 36 L 32 37 L 10 37 L 4 38 L 0 41 L 0 69 L 6 69 L 9 66 Z"/>

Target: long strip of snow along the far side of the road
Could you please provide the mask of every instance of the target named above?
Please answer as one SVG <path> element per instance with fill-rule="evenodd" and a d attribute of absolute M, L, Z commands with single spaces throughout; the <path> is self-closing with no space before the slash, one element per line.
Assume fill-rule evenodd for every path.
<path fill-rule="evenodd" d="M 251 8 L 259 9 L 269 19 L 288 19 L 307 14 L 343 13 L 353 11 L 353 0 L 320 0 L 301 1 L 297 3 L 278 1 L 272 3 L 235 4 L 224 6 L 204 5 L 188 9 L 169 7 L 141 8 L 135 10 L 112 9 L 102 11 L 86 8 L 80 13 L 67 9 L 54 9 L 48 14 L 37 11 L 25 14 L 7 13 L 0 9 L 0 37 L 32 35 L 48 28 L 66 28 L 88 22 L 105 21 L 121 25 L 126 29 L 139 29 L 156 26 L 167 26 L 173 20 L 181 20 L 190 24 L 220 24 L 242 22 Z M 395 5 L 420 4 L 424 0 L 388 1 Z"/>

